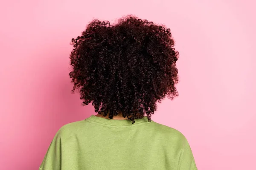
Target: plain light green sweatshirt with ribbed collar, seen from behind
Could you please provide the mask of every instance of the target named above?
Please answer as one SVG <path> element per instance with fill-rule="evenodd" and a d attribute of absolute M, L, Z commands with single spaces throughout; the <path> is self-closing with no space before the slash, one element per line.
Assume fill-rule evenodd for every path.
<path fill-rule="evenodd" d="M 147 117 L 89 118 L 62 126 L 39 170 L 197 170 L 178 130 Z"/>

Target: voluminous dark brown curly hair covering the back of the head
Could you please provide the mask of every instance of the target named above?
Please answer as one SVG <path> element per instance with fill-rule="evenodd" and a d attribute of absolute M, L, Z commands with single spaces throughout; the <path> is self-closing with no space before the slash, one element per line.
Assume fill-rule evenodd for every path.
<path fill-rule="evenodd" d="M 132 121 L 157 110 L 156 102 L 178 96 L 178 52 L 170 29 L 134 15 L 109 21 L 91 21 L 72 39 L 70 54 L 72 94 L 80 92 L 82 105 L 92 102 L 95 112 Z"/>

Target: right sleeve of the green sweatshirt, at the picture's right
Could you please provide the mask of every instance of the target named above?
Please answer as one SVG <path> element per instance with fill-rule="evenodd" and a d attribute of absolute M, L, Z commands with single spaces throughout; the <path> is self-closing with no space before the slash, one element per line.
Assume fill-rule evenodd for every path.
<path fill-rule="evenodd" d="M 180 153 L 178 170 L 198 170 L 188 141 L 185 139 Z"/>

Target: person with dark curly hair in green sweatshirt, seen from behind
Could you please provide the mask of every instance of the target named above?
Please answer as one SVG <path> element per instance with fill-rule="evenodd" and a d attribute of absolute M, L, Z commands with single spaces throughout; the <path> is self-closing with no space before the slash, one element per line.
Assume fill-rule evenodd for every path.
<path fill-rule="evenodd" d="M 178 95 L 170 29 L 128 15 L 93 20 L 72 42 L 72 92 L 98 114 L 61 127 L 39 169 L 197 170 L 185 136 L 151 120 L 156 102 Z"/>

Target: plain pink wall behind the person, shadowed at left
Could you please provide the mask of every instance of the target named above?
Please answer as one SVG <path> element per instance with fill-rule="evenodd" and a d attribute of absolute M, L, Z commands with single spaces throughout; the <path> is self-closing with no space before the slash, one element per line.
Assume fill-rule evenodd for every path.
<path fill-rule="evenodd" d="M 165 24 L 180 52 L 180 96 L 166 97 L 152 119 L 186 136 L 198 170 L 255 169 L 255 5 L 253 0 L 1 2 L 0 170 L 38 170 L 62 125 L 96 114 L 92 105 L 81 106 L 79 94 L 71 94 L 69 43 L 90 20 L 113 23 L 126 14 Z"/>

